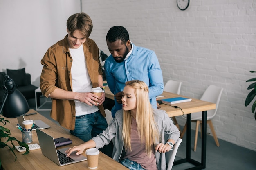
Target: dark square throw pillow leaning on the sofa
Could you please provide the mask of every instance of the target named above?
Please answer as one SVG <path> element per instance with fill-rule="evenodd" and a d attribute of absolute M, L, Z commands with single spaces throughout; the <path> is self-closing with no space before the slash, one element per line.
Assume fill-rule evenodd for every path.
<path fill-rule="evenodd" d="M 19 70 L 6 69 L 7 74 L 13 79 L 14 83 L 19 86 L 28 85 L 25 68 Z"/>

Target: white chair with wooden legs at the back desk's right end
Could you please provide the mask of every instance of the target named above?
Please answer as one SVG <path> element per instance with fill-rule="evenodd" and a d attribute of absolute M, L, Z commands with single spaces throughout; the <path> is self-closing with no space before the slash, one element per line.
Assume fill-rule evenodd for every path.
<path fill-rule="evenodd" d="M 211 132 L 213 134 L 213 138 L 214 138 L 215 143 L 218 147 L 220 146 L 220 144 L 218 142 L 218 138 L 217 138 L 217 135 L 216 135 L 216 132 L 214 130 L 214 127 L 213 127 L 213 124 L 212 124 L 211 120 L 213 119 L 213 117 L 217 113 L 217 109 L 218 109 L 218 105 L 219 105 L 219 102 L 220 102 L 220 97 L 221 97 L 222 91 L 223 91 L 223 88 L 217 87 L 215 85 L 210 85 L 205 90 L 202 97 L 200 98 L 200 100 L 207 101 L 207 102 L 212 102 L 212 103 L 216 104 L 216 109 L 207 111 L 207 123 L 210 126 Z M 182 115 L 182 118 L 186 119 L 186 115 Z M 196 122 L 195 144 L 194 144 L 194 151 L 196 151 L 196 145 L 197 145 L 197 140 L 198 140 L 198 126 L 199 126 L 199 123 L 201 124 L 201 136 L 202 136 L 202 112 L 192 113 L 191 114 L 191 122 Z M 186 124 L 184 126 L 184 129 L 183 129 L 181 135 L 180 135 L 180 138 L 183 137 L 185 132 L 186 132 Z"/>

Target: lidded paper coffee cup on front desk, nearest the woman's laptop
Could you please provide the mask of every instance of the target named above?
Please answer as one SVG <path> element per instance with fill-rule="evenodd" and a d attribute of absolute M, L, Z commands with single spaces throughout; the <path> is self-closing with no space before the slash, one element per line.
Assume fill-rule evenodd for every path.
<path fill-rule="evenodd" d="M 87 163 L 89 169 L 96 169 L 98 168 L 98 161 L 99 161 L 99 150 L 96 148 L 87 149 L 86 152 Z"/>

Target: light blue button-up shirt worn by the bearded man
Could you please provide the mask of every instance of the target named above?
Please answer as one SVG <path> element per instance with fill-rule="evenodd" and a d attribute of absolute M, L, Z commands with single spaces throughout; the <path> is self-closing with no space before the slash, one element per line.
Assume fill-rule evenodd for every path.
<path fill-rule="evenodd" d="M 156 96 L 163 93 L 164 82 L 162 70 L 154 51 L 132 44 L 132 54 L 123 62 L 117 63 L 110 55 L 105 61 L 106 80 L 110 91 L 115 95 L 122 92 L 126 81 L 141 80 L 149 87 L 149 99 L 152 107 L 157 109 Z M 115 99 L 112 116 L 122 109 Z"/>

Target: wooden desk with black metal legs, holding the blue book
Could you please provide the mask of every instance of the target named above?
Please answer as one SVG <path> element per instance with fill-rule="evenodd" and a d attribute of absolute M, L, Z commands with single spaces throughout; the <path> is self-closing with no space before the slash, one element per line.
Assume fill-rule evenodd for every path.
<path fill-rule="evenodd" d="M 110 91 L 108 87 L 105 87 L 105 96 L 107 98 L 110 98 L 114 100 L 114 95 Z M 158 100 L 164 99 L 164 98 L 174 98 L 174 97 L 185 97 L 187 96 L 181 96 L 178 94 L 173 94 L 169 92 L 163 92 L 162 95 L 164 96 L 162 98 L 158 98 Z M 186 163 L 189 162 L 195 167 L 189 168 L 189 170 L 201 170 L 205 169 L 206 167 L 206 118 L 207 118 L 207 110 L 216 109 L 216 104 L 211 102 L 205 102 L 202 100 L 198 100 L 195 98 L 192 98 L 191 102 L 183 102 L 183 103 L 177 103 L 172 106 L 178 106 L 182 109 L 182 111 L 179 108 L 174 108 L 169 105 L 161 104 L 160 105 L 162 110 L 165 110 L 169 117 L 173 116 L 180 116 L 184 114 L 187 115 L 187 133 L 186 133 L 186 158 L 174 161 L 173 166 L 178 165 L 180 163 Z M 191 113 L 196 113 L 202 111 L 202 152 L 201 152 L 201 162 L 195 161 L 191 159 Z"/>

